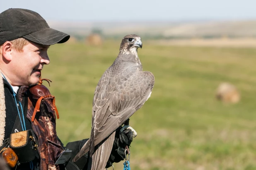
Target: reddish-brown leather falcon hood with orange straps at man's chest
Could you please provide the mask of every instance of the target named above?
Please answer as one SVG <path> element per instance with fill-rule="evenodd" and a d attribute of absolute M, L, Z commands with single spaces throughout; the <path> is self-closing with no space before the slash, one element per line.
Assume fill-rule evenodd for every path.
<path fill-rule="evenodd" d="M 48 79 L 41 79 L 41 75 L 40 75 L 39 83 L 29 88 L 29 93 L 30 93 L 29 96 L 32 98 L 31 102 L 33 104 L 36 103 L 33 116 L 31 118 L 32 122 L 34 122 L 36 113 L 40 111 L 40 104 L 43 100 L 45 100 L 46 104 L 56 112 L 57 118 L 59 118 L 59 113 L 55 105 L 55 97 L 51 95 L 47 87 L 42 85 L 42 80 L 46 80 L 47 82 L 51 81 Z"/>

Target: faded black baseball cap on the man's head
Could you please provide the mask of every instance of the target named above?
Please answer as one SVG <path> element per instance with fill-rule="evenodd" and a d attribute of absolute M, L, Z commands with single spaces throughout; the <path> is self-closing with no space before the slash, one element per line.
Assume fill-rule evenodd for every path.
<path fill-rule="evenodd" d="M 41 15 L 29 9 L 10 8 L 0 13 L 0 45 L 21 37 L 53 45 L 65 43 L 70 35 L 50 28 Z"/>

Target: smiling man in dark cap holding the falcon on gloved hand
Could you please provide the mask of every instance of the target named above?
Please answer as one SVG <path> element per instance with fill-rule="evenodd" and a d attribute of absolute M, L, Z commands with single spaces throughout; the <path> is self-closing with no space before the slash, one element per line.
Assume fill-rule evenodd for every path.
<path fill-rule="evenodd" d="M 43 66 L 50 63 L 49 46 L 69 38 L 31 10 L 7 9 L 0 14 L 0 152 L 12 149 L 12 161 L 17 154 L 13 169 L 87 169 L 87 154 L 75 163 L 69 161 L 87 139 L 63 146 L 56 135 L 54 97 L 40 78 Z M 132 141 L 130 130 L 117 134 L 106 167 L 123 160 Z M 72 151 L 71 158 L 61 157 L 64 149 Z"/>

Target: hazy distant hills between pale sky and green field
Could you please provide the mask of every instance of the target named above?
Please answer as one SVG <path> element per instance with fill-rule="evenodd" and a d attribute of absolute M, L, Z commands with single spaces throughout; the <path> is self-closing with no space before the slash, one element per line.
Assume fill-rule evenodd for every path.
<path fill-rule="evenodd" d="M 135 33 L 145 38 L 213 38 L 255 37 L 256 20 L 227 21 L 141 21 L 141 22 L 58 22 L 50 21 L 53 28 L 72 35 L 86 36 L 99 29 L 106 37 Z"/>

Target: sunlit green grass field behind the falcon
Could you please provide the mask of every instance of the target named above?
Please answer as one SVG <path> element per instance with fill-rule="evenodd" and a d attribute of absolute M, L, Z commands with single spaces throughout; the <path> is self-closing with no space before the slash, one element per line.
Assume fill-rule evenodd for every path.
<path fill-rule="evenodd" d="M 50 47 L 51 64 L 42 78 L 53 81 L 49 89 L 56 96 L 57 133 L 64 144 L 89 138 L 94 89 L 120 43 Z M 138 132 L 130 147 L 132 170 L 256 169 L 256 49 L 144 42 L 138 55 L 143 70 L 155 75 L 155 87 L 130 118 Z M 224 81 L 237 86 L 241 102 L 215 99 Z M 121 169 L 123 161 L 115 163 L 115 170 Z"/>

